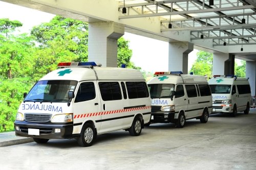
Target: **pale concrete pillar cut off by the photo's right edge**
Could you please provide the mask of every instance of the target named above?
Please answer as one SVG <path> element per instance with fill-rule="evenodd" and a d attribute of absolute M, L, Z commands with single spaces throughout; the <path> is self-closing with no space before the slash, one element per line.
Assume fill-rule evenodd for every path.
<path fill-rule="evenodd" d="M 249 78 L 249 83 L 251 86 L 251 95 L 255 96 L 256 93 L 256 62 L 246 61 L 245 77 Z"/>

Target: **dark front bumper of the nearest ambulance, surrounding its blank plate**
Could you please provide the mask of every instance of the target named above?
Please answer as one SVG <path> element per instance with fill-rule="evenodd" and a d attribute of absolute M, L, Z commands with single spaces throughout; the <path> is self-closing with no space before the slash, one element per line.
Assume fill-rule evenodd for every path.
<path fill-rule="evenodd" d="M 26 121 L 14 122 L 16 136 L 45 138 L 45 139 L 69 139 L 75 138 L 73 123 L 31 123 Z M 39 135 L 29 134 L 29 129 L 39 130 Z"/>

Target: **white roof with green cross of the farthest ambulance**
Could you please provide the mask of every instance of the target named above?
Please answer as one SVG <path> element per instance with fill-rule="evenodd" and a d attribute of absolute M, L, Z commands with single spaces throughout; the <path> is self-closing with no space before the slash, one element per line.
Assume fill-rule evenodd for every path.
<path fill-rule="evenodd" d="M 209 84 L 249 84 L 246 78 L 216 77 L 208 81 Z"/>

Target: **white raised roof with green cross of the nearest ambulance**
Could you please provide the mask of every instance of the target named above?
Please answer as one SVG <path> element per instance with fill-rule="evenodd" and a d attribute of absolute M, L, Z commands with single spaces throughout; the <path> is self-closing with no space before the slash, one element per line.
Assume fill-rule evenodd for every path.
<path fill-rule="evenodd" d="M 49 72 L 40 80 L 145 80 L 139 70 L 117 67 L 65 67 Z"/>

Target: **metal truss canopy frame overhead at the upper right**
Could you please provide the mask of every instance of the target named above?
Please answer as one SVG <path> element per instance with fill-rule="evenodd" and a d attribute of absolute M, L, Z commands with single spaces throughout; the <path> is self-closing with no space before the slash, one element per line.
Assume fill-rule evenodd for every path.
<path fill-rule="evenodd" d="M 211 6 L 208 0 L 125 0 L 124 5 L 116 1 L 120 11 L 127 9 L 119 19 L 156 16 L 161 32 L 190 30 L 190 40 L 203 35 L 214 46 L 256 44 L 256 0 L 214 0 Z"/>

